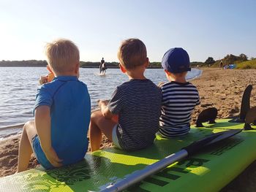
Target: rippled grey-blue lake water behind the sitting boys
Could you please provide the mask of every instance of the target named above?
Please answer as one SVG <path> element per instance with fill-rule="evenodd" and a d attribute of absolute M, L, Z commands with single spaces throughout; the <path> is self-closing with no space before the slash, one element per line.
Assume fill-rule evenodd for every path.
<path fill-rule="evenodd" d="M 91 96 L 91 108 L 97 107 L 98 99 L 110 99 L 117 85 L 128 80 L 119 69 L 107 69 L 99 76 L 99 69 L 80 69 L 80 80 L 86 83 Z M 0 67 L 0 139 L 17 134 L 15 128 L 6 128 L 33 119 L 32 109 L 39 88 L 39 77 L 48 74 L 45 67 Z M 187 74 L 191 80 L 201 71 L 192 69 Z M 154 83 L 165 82 L 163 69 L 146 69 L 145 76 Z"/>

